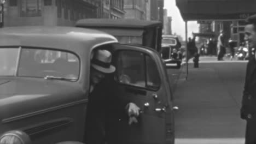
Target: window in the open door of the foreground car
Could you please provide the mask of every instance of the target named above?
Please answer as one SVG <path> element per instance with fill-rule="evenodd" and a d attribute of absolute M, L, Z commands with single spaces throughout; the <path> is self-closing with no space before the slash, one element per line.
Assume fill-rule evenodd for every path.
<path fill-rule="evenodd" d="M 119 51 L 117 56 L 120 83 L 144 88 L 160 86 L 158 69 L 151 57 L 138 51 Z"/>

